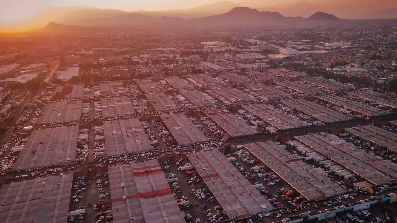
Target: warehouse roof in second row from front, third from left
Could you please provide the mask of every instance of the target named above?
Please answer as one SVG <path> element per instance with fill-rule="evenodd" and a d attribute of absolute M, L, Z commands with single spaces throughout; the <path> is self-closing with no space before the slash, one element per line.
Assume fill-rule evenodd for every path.
<path fill-rule="evenodd" d="M 206 142 L 210 139 L 183 113 L 160 115 L 179 145 Z"/>

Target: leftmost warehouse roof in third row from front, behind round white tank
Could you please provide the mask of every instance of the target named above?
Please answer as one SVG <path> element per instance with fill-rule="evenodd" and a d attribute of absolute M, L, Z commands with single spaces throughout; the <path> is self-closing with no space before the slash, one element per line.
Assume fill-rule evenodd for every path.
<path fill-rule="evenodd" d="M 83 101 L 52 102 L 46 105 L 37 124 L 78 121 L 81 117 Z"/>

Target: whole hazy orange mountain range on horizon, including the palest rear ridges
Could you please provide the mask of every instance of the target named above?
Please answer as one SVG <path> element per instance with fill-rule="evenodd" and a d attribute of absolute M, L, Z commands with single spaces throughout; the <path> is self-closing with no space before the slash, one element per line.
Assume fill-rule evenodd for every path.
<path fill-rule="evenodd" d="M 252 1 L 252 0 L 251 0 Z M 335 0 L 338 1 L 338 0 Z M 364 0 L 365 1 L 365 0 Z M 382 0 L 381 0 L 382 1 Z M 374 11 L 368 18 L 397 18 L 397 9 Z M 393 15 L 393 16 L 392 16 Z M 241 7 L 229 1 L 220 1 L 185 10 L 163 10 L 156 12 L 126 12 L 114 9 L 98 9 L 87 6 L 53 7 L 37 15 L 12 24 L 0 24 L 0 30 L 20 27 L 39 28 L 48 22 L 83 27 L 230 27 L 260 25 L 314 25 L 337 20 L 335 15 L 316 12 L 307 18 L 284 16 L 279 12 L 262 11 Z"/>

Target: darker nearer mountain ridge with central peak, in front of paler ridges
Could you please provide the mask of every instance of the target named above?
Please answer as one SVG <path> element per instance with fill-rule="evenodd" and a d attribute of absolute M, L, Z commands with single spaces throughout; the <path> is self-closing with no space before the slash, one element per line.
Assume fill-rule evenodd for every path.
<path fill-rule="evenodd" d="M 154 17 L 141 13 L 128 13 L 115 17 L 91 18 L 81 21 L 74 20 L 64 25 L 89 27 L 236 27 L 236 26 L 264 26 L 264 25 L 310 25 L 322 21 L 335 20 L 334 15 L 317 12 L 309 18 L 285 17 L 278 12 L 259 12 L 248 7 L 236 7 L 220 15 L 212 15 L 195 19 L 180 19 L 173 17 Z M 337 19 L 337 18 L 336 18 Z M 49 24 L 50 25 L 50 24 Z M 52 24 L 52 26 L 55 26 Z"/>

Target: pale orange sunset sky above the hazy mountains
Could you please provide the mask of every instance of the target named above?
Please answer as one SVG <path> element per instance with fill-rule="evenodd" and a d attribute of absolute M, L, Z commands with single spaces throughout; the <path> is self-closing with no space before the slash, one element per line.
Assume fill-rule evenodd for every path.
<path fill-rule="evenodd" d="M 214 3 L 219 0 L 0 0 L 0 22 L 16 21 L 37 14 L 52 6 L 92 6 L 96 8 L 112 8 L 126 11 L 166 10 L 193 8 L 195 6 Z M 393 7 L 395 0 L 230 0 L 236 4 L 256 8 L 269 8 L 299 15 L 302 2 L 310 4 L 309 8 L 323 8 L 330 11 L 339 10 L 381 10 Z M 289 9 L 288 9 L 289 7 Z M 307 6 L 305 6 L 307 10 Z M 395 7 L 395 6 L 394 6 Z M 397 7 L 395 7 L 397 8 Z M 294 12 L 295 11 L 295 12 Z"/>

